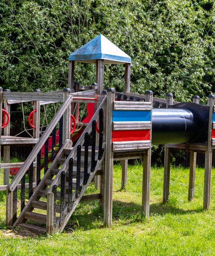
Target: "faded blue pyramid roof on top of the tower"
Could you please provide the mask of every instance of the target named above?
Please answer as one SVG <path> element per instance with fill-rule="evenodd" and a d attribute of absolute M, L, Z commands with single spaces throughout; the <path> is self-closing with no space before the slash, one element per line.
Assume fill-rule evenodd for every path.
<path fill-rule="evenodd" d="M 95 37 L 68 56 L 69 61 L 86 63 L 95 63 L 96 60 L 101 59 L 104 60 L 104 64 L 131 63 L 127 54 L 102 35 Z"/>

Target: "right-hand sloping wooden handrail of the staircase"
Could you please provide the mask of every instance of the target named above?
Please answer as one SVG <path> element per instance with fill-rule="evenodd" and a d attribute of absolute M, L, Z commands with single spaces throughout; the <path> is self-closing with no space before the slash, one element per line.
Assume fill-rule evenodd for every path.
<path fill-rule="evenodd" d="M 84 143 L 84 136 L 85 133 L 89 133 L 92 127 L 92 121 L 93 120 L 97 120 L 98 116 L 99 116 L 99 109 L 105 107 L 106 104 L 106 96 L 104 96 L 103 100 L 101 101 L 101 103 L 99 104 L 99 106 L 97 107 L 97 110 L 95 111 L 95 113 L 93 114 L 92 118 L 90 119 L 90 121 L 88 122 L 88 124 L 86 125 L 85 129 L 84 129 L 84 133 L 81 134 L 81 136 L 79 137 L 78 141 L 76 142 L 75 146 L 73 147 L 73 149 L 71 150 L 71 152 L 69 153 L 68 158 L 66 159 L 66 161 L 64 162 L 64 164 L 62 165 L 62 167 L 60 168 L 60 171 L 57 173 L 56 177 L 54 178 L 54 181 L 50 184 L 49 188 L 46 191 L 46 195 L 50 192 L 52 192 L 52 188 L 54 185 L 57 185 L 58 182 L 60 181 L 60 175 L 61 173 L 64 171 L 65 173 L 67 172 L 67 166 L 68 166 L 68 159 L 69 158 L 73 158 L 75 156 L 75 153 L 77 151 L 77 146 L 78 145 L 83 145 Z"/>

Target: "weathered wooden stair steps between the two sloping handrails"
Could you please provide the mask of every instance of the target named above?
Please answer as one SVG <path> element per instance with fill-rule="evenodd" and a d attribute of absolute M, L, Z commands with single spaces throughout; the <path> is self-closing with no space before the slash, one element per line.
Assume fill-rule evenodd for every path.
<path fill-rule="evenodd" d="M 104 154 L 98 160 L 98 149 L 94 149 L 96 165 L 91 171 L 91 147 L 86 153 L 84 147 L 78 145 L 76 148 L 79 147 L 79 151 L 74 157 L 75 149 L 70 148 L 70 145 L 72 145 L 70 140 L 64 143 L 13 227 L 18 225 L 36 234 L 62 231 L 78 202 L 81 199 L 84 200 L 83 194 L 88 184 L 94 175 L 99 174 L 96 171 L 100 167 Z M 48 194 L 53 197 L 52 205 L 48 202 Z M 85 197 L 86 200 L 97 198 L 99 194 Z M 28 223 L 29 221 L 33 223 Z"/>

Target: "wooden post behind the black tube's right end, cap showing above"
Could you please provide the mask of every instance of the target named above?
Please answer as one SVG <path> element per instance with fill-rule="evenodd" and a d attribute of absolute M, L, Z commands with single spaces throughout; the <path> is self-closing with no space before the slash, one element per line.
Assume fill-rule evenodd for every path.
<path fill-rule="evenodd" d="M 199 104 L 199 96 L 194 96 L 193 97 L 193 103 Z M 191 201 L 194 198 L 195 166 L 196 166 L 196 152 L 190 152 L 190 156 L 189 156 L 188 201 Z"/>

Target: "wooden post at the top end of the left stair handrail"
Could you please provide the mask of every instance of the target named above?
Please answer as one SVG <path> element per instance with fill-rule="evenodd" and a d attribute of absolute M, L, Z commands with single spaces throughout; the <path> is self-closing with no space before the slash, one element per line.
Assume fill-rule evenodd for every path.
<path fill-rule="evenodd" d="M 67 96 L 71 94 L 71 90 L 66 88 L 63 89 L 63 101 L 67 98 Z M 63 132 L 62 132 L 62 143 L 64 143 L 67 139 L 70 139 L 70 115 L 71 115 L 71 104 L 67 107 L 63 114 Z"/>

